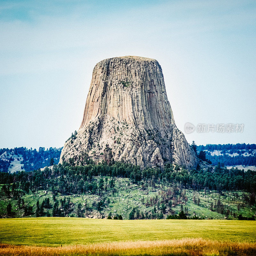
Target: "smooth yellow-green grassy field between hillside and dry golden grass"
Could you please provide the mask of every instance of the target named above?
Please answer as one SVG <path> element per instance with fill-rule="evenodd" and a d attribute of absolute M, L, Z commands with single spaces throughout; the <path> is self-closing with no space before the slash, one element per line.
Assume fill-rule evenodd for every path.
<path fill-rule="evenodd" d="M 0 219 L 0 239 L 8 244 L 60 246 L 182 238 L 256 242 L 256 221 Z"/>

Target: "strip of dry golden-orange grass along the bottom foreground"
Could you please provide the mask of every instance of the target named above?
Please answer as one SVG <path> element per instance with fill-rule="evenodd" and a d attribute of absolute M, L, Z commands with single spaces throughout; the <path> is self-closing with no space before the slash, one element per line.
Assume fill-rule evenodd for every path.
<path fill-rule="evenodd" d="M 1 256 L 203 256 L 203 255 L 256 255 L 256 243 L 220 242 L 202 238 L 180 240 L 118 242 L 62 247 L 29 245 L 0 246 Z"/>

